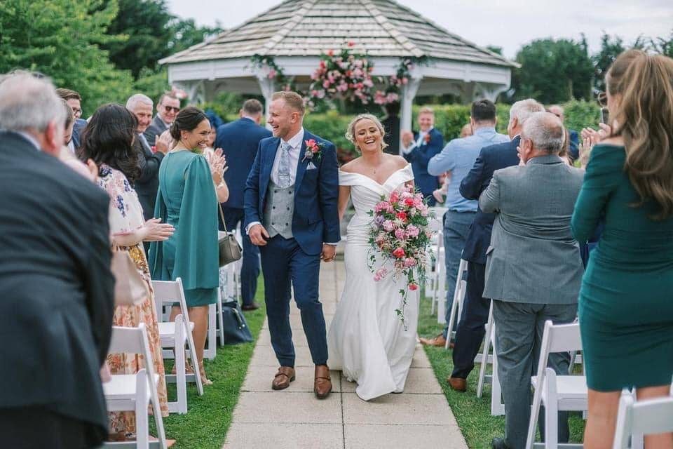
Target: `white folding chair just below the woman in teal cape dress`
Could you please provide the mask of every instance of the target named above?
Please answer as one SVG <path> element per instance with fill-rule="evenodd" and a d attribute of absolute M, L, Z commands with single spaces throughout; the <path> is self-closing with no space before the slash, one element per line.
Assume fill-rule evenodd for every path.
<path fill-rule="evenodd" d="M 173 322 L 160 322 L 159 337 L 161 338 L 161 347 L 170 348 L 163 351 L 164 358 L 172 358 L 175 354 L 175 373 L 166 374 L 167 383 L 175 383 L 177 387 L 177 401 L 168 403 L 170 413 L 187 413 L 187 381 L 196 382 L 198 395 L 203 394 L 203 385 L 198 373 L 198 358 L 196 357 L 196 346 L 192 330 L 194 323 L 189 321 L 189 310 L 187 302 L 184 299 L 184 290 L 182 289 L 182 279 L 175 281 L 152 281 L 154 288 L 154 301 L 156 302 L 157 316 L 163 316 L 163 304 L 169 303 L 170 307 L 175 302 L 179 303 L 180 314 L 175 317 Z M 189 357 L 193 373 L 186 373 L 186 360 L 184 355 L 185 346 L 189 346 Z"/>

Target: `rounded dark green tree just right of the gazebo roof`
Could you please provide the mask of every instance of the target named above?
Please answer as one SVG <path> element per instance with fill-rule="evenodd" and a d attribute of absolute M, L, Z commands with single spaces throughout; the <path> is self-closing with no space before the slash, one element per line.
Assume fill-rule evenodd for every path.
<path fill-rule="evenodd" d="M 544 103 L 591 97 L 594 67 L 585 39 L 538 39 L 517 53 L 515 100 L 536 98 Z"/>

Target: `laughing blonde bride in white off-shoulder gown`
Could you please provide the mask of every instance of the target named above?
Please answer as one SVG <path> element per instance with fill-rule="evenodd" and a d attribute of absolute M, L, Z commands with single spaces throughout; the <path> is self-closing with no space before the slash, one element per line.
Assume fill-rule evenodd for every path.
<path fill-rule="evenodd" d="M 327 335 L 329 366 L 341 370 L 349 381 L 358 382 L 355 392 L 365 401 L 405 388 L 416 347 L 419 300 L 409 292 L 404 323 L 395 309 L 400 307 L 400 289 L 405 279 L 389 275 L 374 281 L 369 269 L 369 229 L 367 213 L 393 190 L 414 185 L 412 167 L 400 156 L 383 153 L 383 126 L 370 114 L 361 114 L 348 126 L 346 137 L 362 156 L 339 170 L 339 218 L 344 217 L 348 199 L 353 199 L 355 215 L 348 224 L 346 283 Z M 373 251 L 373 249 L 372 249 Z M 376 257 L 376 269 L 383 257 Z"/>

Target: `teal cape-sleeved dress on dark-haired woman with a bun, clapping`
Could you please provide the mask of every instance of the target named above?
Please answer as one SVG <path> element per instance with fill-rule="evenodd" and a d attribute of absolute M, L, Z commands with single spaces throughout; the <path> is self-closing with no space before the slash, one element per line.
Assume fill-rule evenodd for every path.
<path fill-rule="evenodd" d="M 165 156 L 154 217 L 173 225 L 175 233 L 166 241 L 151 243 L 152 279 L 181 278 L 189 307 L 217 302 L 217 196 L 203 156 L 189 151 Z"/>

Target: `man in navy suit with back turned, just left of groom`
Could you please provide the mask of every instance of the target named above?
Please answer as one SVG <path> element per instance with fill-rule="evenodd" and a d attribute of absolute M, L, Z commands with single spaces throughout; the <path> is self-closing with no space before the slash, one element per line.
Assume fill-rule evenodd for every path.
<path fill-rule="evenodd" d="M 229 170 L 224 173 L 224 180 L 229 186 L 229 199 L 222 204 L 226 229 L 236 229 L 243 222 L 243 191 L 245 181 L 250 173 L 254 157 L 257 155 L 259 141 L 271 137 L 271 131 L 259 126 L 264 111 L 261 102 L 250 99 L 240 109 L 240 119 L 226 123 L 217 128 L 216 148 L 224 150 Z M 222 223 L 219 224 L 220 229 Z M 259 276 L 259 247 L 254 246 L 246 232 L 243 235 L 243 267 L 240 269 L 241 295 L 243 310 L 254 310 L 259 304 L 254 302 L 257 293 L 257 277 Z"/>

